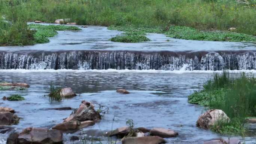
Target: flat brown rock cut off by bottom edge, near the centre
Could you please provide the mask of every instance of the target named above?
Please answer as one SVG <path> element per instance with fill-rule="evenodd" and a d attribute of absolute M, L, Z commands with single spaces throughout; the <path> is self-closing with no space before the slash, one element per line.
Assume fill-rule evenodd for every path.
<path fill-rule="evenodd" d="M 122 144 L 162 144 L 166 143 L 163 138 L 153 137 L 129 137 L 122 140 Z"/>

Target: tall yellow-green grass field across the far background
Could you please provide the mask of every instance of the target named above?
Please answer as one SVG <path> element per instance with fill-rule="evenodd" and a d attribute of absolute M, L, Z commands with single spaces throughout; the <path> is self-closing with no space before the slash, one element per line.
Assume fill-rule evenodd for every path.
<path fill-rule="evenodd" d="M 9 0 L 0 5 L 8 7 Z M 236 0 L 14 0 L 28 21 L 54 22 L 71 18 L 80 25 L 167 27 L 170 24 L 205 30 L 227 30 L 256 35 L 256 5 Z M 10 18 L 11 13 L 4 15 Z"/>

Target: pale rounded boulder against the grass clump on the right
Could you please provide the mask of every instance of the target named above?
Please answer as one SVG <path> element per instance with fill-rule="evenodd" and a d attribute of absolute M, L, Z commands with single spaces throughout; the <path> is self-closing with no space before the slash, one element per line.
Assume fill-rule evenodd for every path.
<path fill-rule="evenodd" d="M 199 116 L 198 120 L 196 121 L 196 126 L 209 129 L 210 126 L 215 125 L 218 121 L 226 121 L 229 122 L 229 117 L 224 113 L 222 110 L 211 109 L 206 111 L 204 114 Z"/>

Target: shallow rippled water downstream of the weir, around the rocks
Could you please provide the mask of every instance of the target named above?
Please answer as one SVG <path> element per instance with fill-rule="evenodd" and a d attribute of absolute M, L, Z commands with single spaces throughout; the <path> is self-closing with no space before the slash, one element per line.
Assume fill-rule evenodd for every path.
<path fill-rule="evenodd" d="M 201 144 L 202 141 L 219 137 L 210 131 L 196 128 L 198 116 L 205 111 L 197 105 L 188 104 L 187 96 L 201 88 L 212 73 L 116 73 L 116 72 L 1 72 L 0 82 L 25 82 L 30 88 L 25 91 L 1 91 L 0 96 L 21 94 L 25 101 L 2 101 L 1 106 L 12 107 L 23 119 L 15 127 L 51 128 L 68 117 L 72 110 L 44 110 L 53 107 L 77 108 L 82 100 L 93 101 L 109 107 L 109 112 L 96 125 L 88 129 L 110 131 L 125 126 L 128 119 L 134 120 L 135 127 L 163 127 L 179 132 L 177 138 L 167 138 L 168 143 Z M 49 85 L 71 87 L 78 96 L 62 102 L 49 101 Z M 116 93 L 126 88 L 131 94 Z M 72 135 L 72 134 L 71 134 Z M 71 143 L 64 135 L 65 143 Z M 74 135 L 74 134 L 73 134 Z M 7 135 L 0 135 L 2 139 Z M 246 138 L 247 141 L 252 138 Z M 4 141 L 3 141 L 4 142 Z"/>

